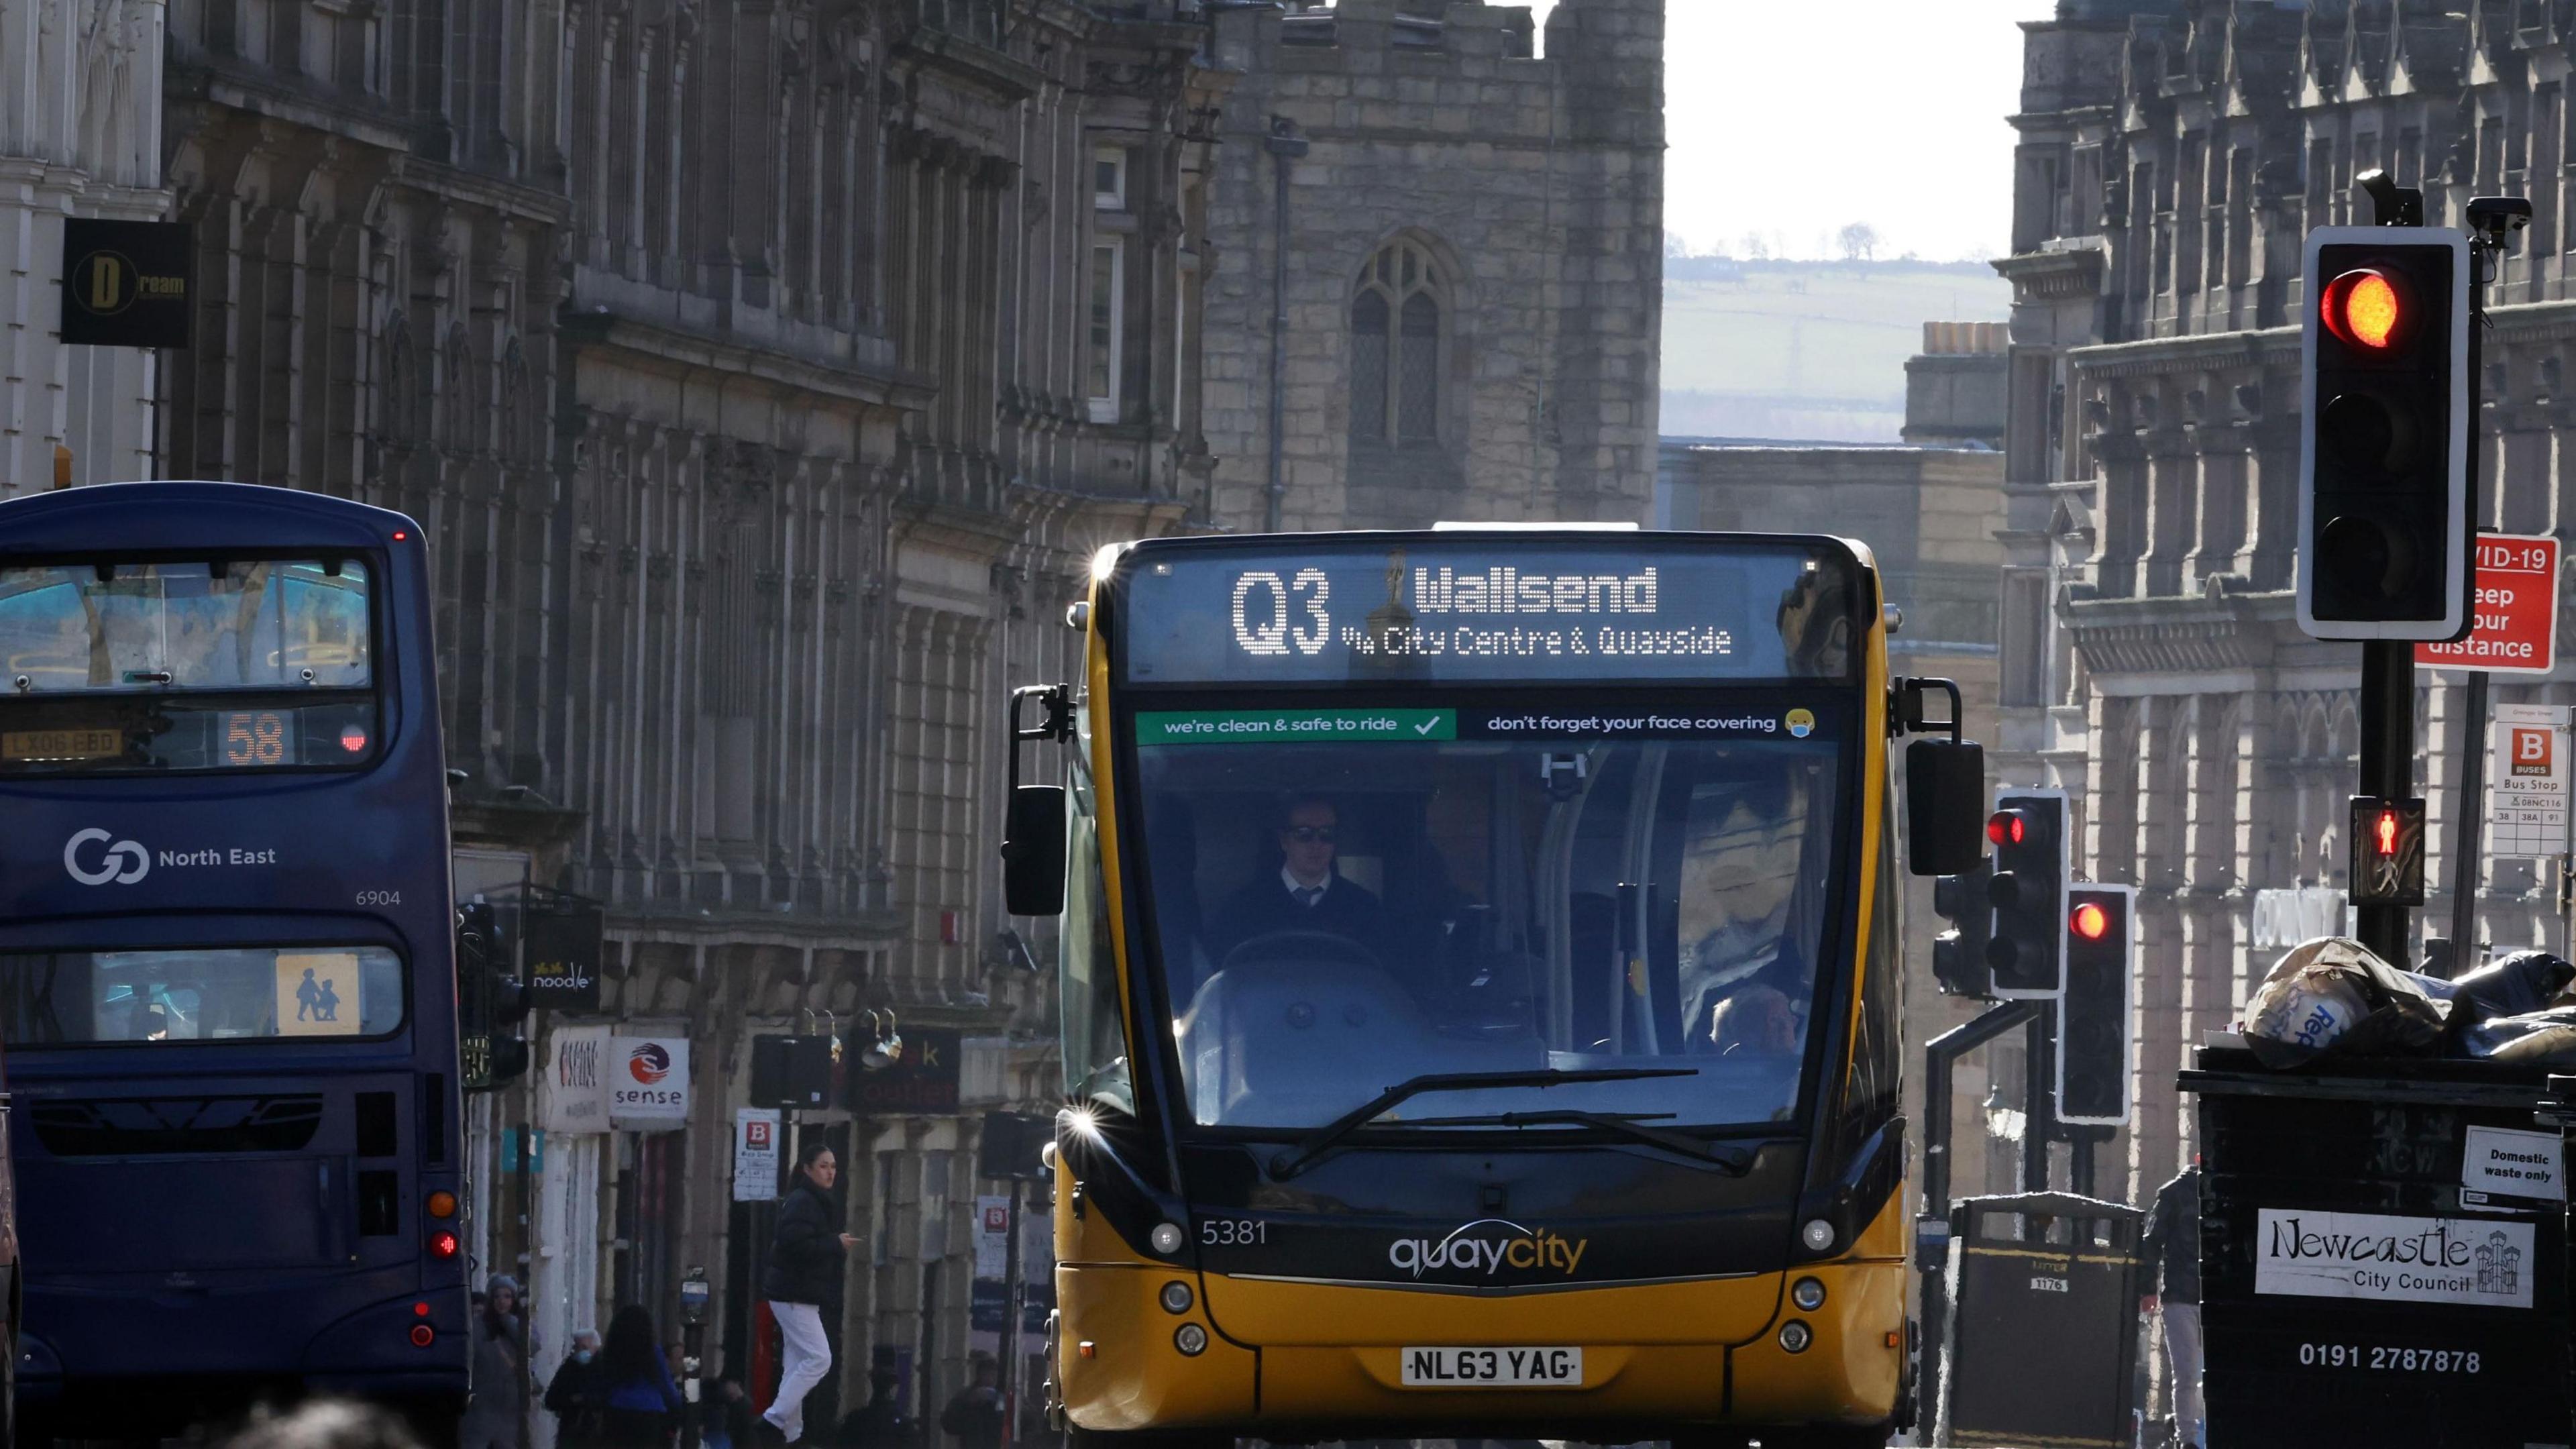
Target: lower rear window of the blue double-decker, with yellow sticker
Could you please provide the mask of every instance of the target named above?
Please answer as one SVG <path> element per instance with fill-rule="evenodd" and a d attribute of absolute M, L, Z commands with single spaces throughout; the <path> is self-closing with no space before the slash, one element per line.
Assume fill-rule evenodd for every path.
<path fill-rule="evenodd" d="M 198 946 L 0 957 L 13 1047 L 384 1036 L 402 957 L 384 946 Z"/>

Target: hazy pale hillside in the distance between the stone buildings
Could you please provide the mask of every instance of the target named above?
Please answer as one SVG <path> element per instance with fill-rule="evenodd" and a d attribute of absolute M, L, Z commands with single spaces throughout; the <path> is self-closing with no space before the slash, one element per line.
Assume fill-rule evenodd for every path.
<path fill-rule="evenodd" d="M 1667 438 L 1893 443 L 1924 322 L 2002 322 L 1986 263 L 1664 263 Z"/>

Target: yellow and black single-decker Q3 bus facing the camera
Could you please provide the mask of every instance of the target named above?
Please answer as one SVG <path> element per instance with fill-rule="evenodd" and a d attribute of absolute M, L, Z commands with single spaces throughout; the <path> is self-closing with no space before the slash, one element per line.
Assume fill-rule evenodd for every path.
<path fill-rule="evenodd" d="M 1440 529 L 1092 575 L 1084 678 L 1012 699 L 1002 851 L 1064 913 L 1056 1423 L 1906 1423 L 1888 743 L 1932 691 L 1911 866 L 1984 810 L 1868 552 Z M 1069 784 L 1020 786 L 1030 740 Z"/>

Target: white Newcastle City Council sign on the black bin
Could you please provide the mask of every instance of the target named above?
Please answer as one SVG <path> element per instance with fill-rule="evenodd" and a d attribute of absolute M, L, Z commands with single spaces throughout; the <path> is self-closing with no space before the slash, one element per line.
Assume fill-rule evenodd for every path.
<path fill-rule="evenodd" d="M 2532 1307 L 2532 1225 L 2267 1207 L 2254 1292 Z"/>

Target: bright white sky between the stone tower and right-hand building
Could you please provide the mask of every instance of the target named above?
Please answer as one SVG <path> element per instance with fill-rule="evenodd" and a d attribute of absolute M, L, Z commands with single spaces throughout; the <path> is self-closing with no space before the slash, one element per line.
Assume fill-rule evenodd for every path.
<path fill-rule="evenodd" d="M 1556 0 L 1533 0 L 1538 23 Z M 1667 0 L 1664 227 L 1690 250 L 1999 255 L 2022 31 L 2053 0 Z"/>

